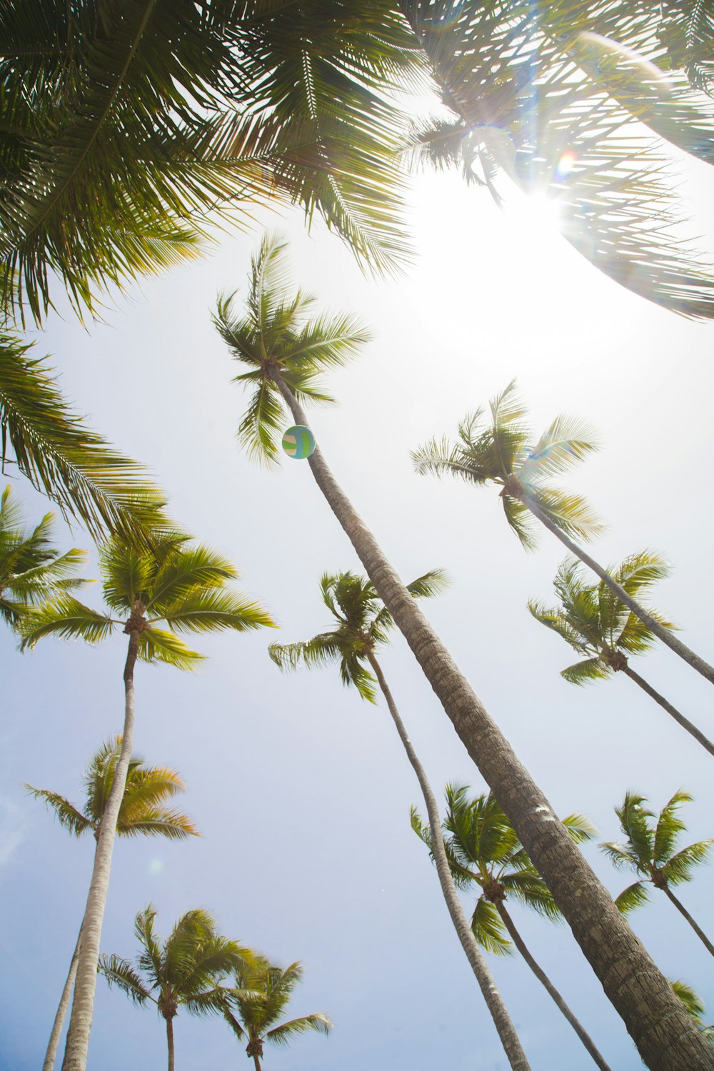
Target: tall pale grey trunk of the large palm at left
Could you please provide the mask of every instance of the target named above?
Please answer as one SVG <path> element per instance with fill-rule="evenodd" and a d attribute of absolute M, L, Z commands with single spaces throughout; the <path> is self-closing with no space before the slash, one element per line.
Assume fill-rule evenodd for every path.
<path fill-rule="evenodd" d="M 96 964 L 100 957 L 100 940 L 102 938 L 102 922 L 104 908 L 109 891 L 109 874 L 111 872 L 111 855 L 117 834 L 119 809 L 124 798 L 126 772 L 134 746 L 134 666 L 139 649 L 139 633 L 130 634 L 128 651 L 124 665 L 124 727 L 119 761 L 115 769 L 111 789 L 104 810 L 100 835 L 94 855 L 92 883 L 87 897 L 87 909 L 82 922 L 82 941 L 77 964 L 77 982 L 70 1029 L 64 1047 L 62 1071 L 85 1071 L 89 1052 L 89 1035 L 92 1028 L 94 1010 L 94 991 L 96 990 Z"/>

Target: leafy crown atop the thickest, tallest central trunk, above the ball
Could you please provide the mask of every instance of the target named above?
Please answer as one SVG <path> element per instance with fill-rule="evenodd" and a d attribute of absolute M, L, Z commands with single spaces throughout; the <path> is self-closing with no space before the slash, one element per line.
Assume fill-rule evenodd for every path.
<path fill-rule="evenodd" d="M 240 364 L 236 376 L 253 390 L 238 438 L 248 454 L 265 464 L 278 457 L 285 416 L 280 384 L 297 398 L 332 402 L 319 376 L 340 366 L 367 341 L 354 317 L 308 318 L 313 298 L 287 292 L 285 243 L 265 236 L 252 260 L 246 314 L 232 312 L 232 296 L 219 299 L 213 322 Z"/>

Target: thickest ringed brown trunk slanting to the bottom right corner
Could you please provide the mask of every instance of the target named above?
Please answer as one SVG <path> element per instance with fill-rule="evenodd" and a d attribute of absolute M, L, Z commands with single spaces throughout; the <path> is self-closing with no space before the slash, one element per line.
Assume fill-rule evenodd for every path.
<path fill-rule="evenodd" d="M 302 406 L 275 374 L 297 424 Z M 397 627 L 411 647 L 461 742 L 493 790 L 518 839 L 551 890 L 608 998 L 653 1071 L 714 1071 L 714 1047 L 689 1020 L 669 981 L 571 841 L 543 791 L 489 718 L 379 544 L 316 448 L 313 476 Z"/>

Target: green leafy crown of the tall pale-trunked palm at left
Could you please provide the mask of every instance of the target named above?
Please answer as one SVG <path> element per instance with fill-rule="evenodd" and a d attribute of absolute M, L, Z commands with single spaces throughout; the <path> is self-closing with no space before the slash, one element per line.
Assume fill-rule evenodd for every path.
<path fill-rule="evenodd" d="M 234 567 L 209 547 L 192 545 L 187 536 L 157 534 L 145 550 L 111 540 L 102 549 L 100 568 L 105 602 L 121 617 L 58 597 L 33 612 L 24 647 L 49 635 L 96 644 L 121 627 L 139 633 L 138 657 L 145 662 L 193 669 L 202 655 L 177 633 L 244 632 L 273 623 L 258 603 L 226 590 L 237 576 Z M 168 629 L 158 628 L 161 622 Z"/>

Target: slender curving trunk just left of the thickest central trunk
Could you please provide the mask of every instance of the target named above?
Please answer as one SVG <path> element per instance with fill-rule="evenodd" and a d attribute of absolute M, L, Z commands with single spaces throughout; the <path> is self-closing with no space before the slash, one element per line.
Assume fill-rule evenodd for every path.
<path fill-rule="evenodd" d="M 466 952 L 466 957 L 471 964 L 471 969 L 476 977 L 481 992 L 484 995 L 484 1000 L 486 1001 L 488 1010 L 491 1013 L 498 1036 L 501 1039 L 501 1044 L 503 1045 L 505 1054 L 508 1057 L 508 1062 L 511 1064 L 513 1071 L 521 1071 L 521 1069 L 522 1071 L 529 1071 L 530 1064 L 528 1062 L 526 1054 L 521 1047 L 516 1028 L 513 1025 L 513 1021 L 511 1020 L 508 1010 L 503 1002 L 503 998 L 498 991 L 493 976 L 488 969 L 484 954 L 476 945 L 476 939 L 473 936 L 469 921 L 464 914 L 461 902 L 458 899 L 456 886 L 454 885 L 451 875 L 449 860 L 446 859 L 444 841 L 441 834 L 439 808 L 431 790 L 431 785 L 427 780 L 424 767 L 420 763 L 413 744 L 409 739 L 409 734 L 407 733 L 405 724 L 401 721 L 399 711 L 397 710 L 392 693 L 389 689 L 386 680 L 384 679 L 384 675 L 382 674 L 381 666 L 371 651 L 367 653 L 367 660 L 374 669 L 379 687 L 382 690 L 384 698 L 386 699 L 386 705 L 390 708 L 390 713 L 392 714 L 394 724 L 397 727 L 397 733 L 399 734 L 399 738 L 405 745 L 405 751 L 409 756 L 409 761 L 414 769 L 414 773 L 416 774 L 422 788 L 422 795 L 424 796 L 424 802 L 426 803 L 426 810 L 429 816 L 434 861 L 437 865 L 437 874 L 439 875 L 441 892 L 443 893 L 444 901 L 446 902 L 446 907 L 449 908 L 454 930 L 456 931 L 458 939 L 461 942 L 461 948 Z M 609 1068 L 606 1069 L 606 1071 L 609 1071 Z"/>

